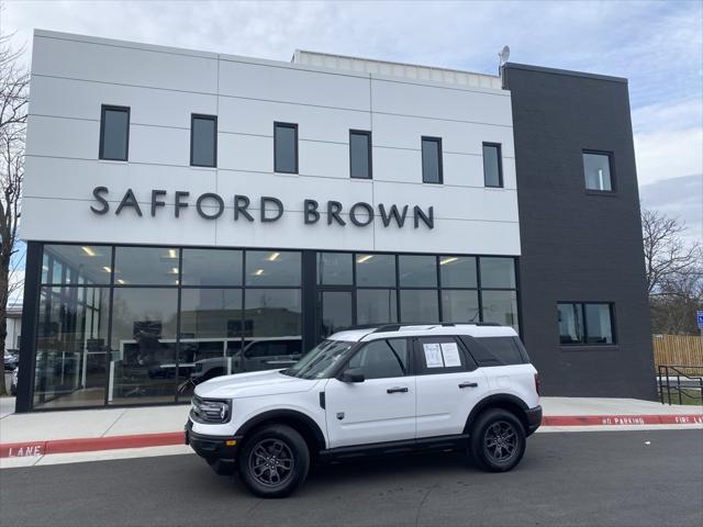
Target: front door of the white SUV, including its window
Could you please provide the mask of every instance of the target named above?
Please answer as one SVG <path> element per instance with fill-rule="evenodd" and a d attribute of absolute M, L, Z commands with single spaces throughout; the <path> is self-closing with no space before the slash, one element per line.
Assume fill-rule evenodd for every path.
<path fill-rule="evenodd" d="M 325 414 L 330 447 L 398 441 L 415 437 L 415 378 L 409 375 L 406 338 L 372 340 L 346 368 L 364 372 L 362 382 L 330 379 Z"/>

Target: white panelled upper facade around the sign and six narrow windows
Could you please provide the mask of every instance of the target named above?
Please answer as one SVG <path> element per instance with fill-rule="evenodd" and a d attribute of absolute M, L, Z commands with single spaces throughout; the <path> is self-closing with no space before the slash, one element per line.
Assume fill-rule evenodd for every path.
<path fill-rule="evenodd" d="M 33 60 L 25 239 L 520 254 L 506 91 L 48 32 L 35 37 Z M 98 159 L 101 104 L 131 109 L 127 162 Z M 191 113 L 217 115 L 217 168 L 189 166 Z M 298 124 L 299 175 L 274 172 L 275 121 Z M 372 133 L 372 180 L 349 178 L 349 130 Z M 423 135 L 443 139 L 444 184 L 422 182 Z M 483 142 L 502 145 L 504 189 L 483 186 Z M 96 187 L 109 188 L 107 214 L 90 210 L 102 206 L 92 199 Z M 132 208 L 115 215 L 127 189 L 143 216 Z M 152 190 L 166 191 L 154 217 Z M 176 191 L 190 192 L 178 218 Z M 225 205 L 216 220 L 196 210 L 207 192 Z M 235 195 L 249 198 L 254 222 L 234 220 Z M 260 221 L 261 197 L 282 202 L 278 221 Z M 305 199 L 319 203 L 316 223 L 305 223 Z M 342 204 L 346 225 L 327 223 L 328 201 Z M 355 203 L 373 208 L 370 225 L 353 224 Z M 381 204 L 408 205 L 402 228 L 383 226 Z M 415 228 L 415 205 L 425 214 L 433 208 L 434 228 Z"/>

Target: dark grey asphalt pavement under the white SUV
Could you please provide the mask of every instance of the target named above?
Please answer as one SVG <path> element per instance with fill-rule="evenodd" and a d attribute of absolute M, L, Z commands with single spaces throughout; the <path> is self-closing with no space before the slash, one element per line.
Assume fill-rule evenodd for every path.
<path fill-rule="evenodd" d="M 457 453 L 316 467 L 284 500 L 196 456 L 8 469 L 2 526 L 700 526 L 703 431 L 537 434 L 512 472 Z"/>

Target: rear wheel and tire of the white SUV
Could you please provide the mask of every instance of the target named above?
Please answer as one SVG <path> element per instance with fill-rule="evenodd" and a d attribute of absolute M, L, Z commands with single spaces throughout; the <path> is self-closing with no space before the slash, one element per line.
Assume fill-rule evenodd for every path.
<path fill-rule="evenodd" d="M 471 426 L 469 450 L 476 464 L 487 472 L 507 472 L 525 455 L 525 428 L 506 410 L 488 410 Z"/>

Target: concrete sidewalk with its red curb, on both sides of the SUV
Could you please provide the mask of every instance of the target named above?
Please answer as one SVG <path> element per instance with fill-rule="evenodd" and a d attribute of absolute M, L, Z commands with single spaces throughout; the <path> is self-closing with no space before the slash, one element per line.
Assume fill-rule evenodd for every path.
<path fill-rule="evenodd" d="M 0 458 L 182 444 L 188 405 L 13 414 L 0 400 Z M 543 431 L 703 425 L 703 407 L 634 399 L 542 397 Z M 576 430 L 574 430 L 576 431 Z"/>

